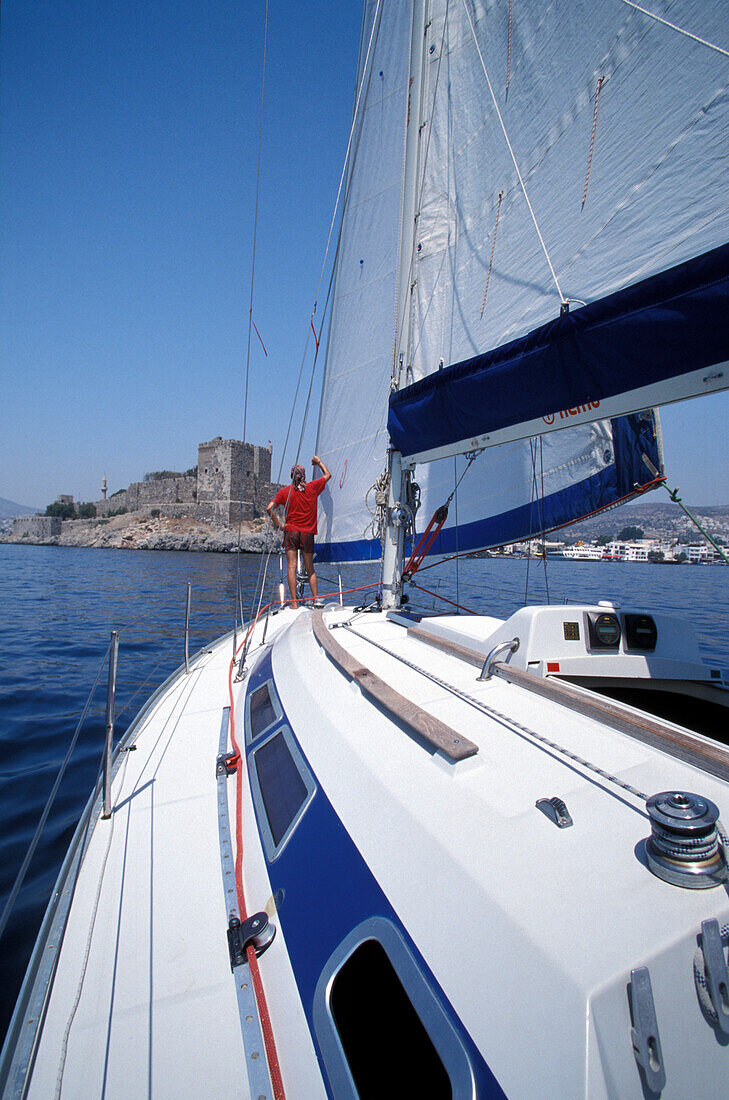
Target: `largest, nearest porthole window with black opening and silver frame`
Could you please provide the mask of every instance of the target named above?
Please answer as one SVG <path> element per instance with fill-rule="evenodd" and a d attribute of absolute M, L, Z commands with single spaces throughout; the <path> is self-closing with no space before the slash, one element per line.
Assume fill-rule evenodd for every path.
<path fill-rule="evenodd" d="M 355 928 L 327 963 L 314 994 L 314 1027 L 338 1098 L 474 1096 L 471 1060 L 454 1023 L 384 917 Z"/>

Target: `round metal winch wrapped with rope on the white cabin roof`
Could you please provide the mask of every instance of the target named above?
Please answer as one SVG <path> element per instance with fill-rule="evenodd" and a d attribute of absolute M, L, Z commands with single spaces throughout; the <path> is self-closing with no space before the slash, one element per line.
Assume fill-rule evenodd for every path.
<path fill-rule="evenodd" d="M 651 835 L 644 848 L 653 875 L 691 890 L 709 890 L 727 881 L 714 802 L 689 791 L 662 791 L 647 801 L 645 809 Z"/>

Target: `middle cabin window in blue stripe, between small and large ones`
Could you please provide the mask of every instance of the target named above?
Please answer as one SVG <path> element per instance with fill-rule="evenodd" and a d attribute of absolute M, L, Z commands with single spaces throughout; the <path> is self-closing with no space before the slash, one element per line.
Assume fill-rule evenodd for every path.
<path fill-rule="evenodd" d="M 263 845 L 270 861 L 291 836 L 316 785 L 288 726 L 253 749 L 248 772 Z"/>

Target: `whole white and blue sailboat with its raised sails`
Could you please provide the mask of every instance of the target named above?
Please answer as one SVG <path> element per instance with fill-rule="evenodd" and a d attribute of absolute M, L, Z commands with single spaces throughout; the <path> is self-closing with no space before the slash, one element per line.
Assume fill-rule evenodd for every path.
<path fill-rule="evenodd" d="M 148 702 L 3 1096 L 726 1096 L 720 670 L 599 593 L 415 597 L 660 484 L 655 407 L 727 388 L 728 45 L 706 0 L 366 0 L 319 557 L 376 598 L 269 605 Z"/>

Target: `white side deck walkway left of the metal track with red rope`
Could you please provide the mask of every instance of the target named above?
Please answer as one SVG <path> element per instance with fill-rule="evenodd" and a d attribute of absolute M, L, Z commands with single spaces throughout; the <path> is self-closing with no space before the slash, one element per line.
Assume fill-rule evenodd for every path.
<path fill-rule="evenodd" d="M 230 644 L 173 684 L 90 838 L 30 1097 L 250 1094 L 228 958 L 214 761 Z"/>

